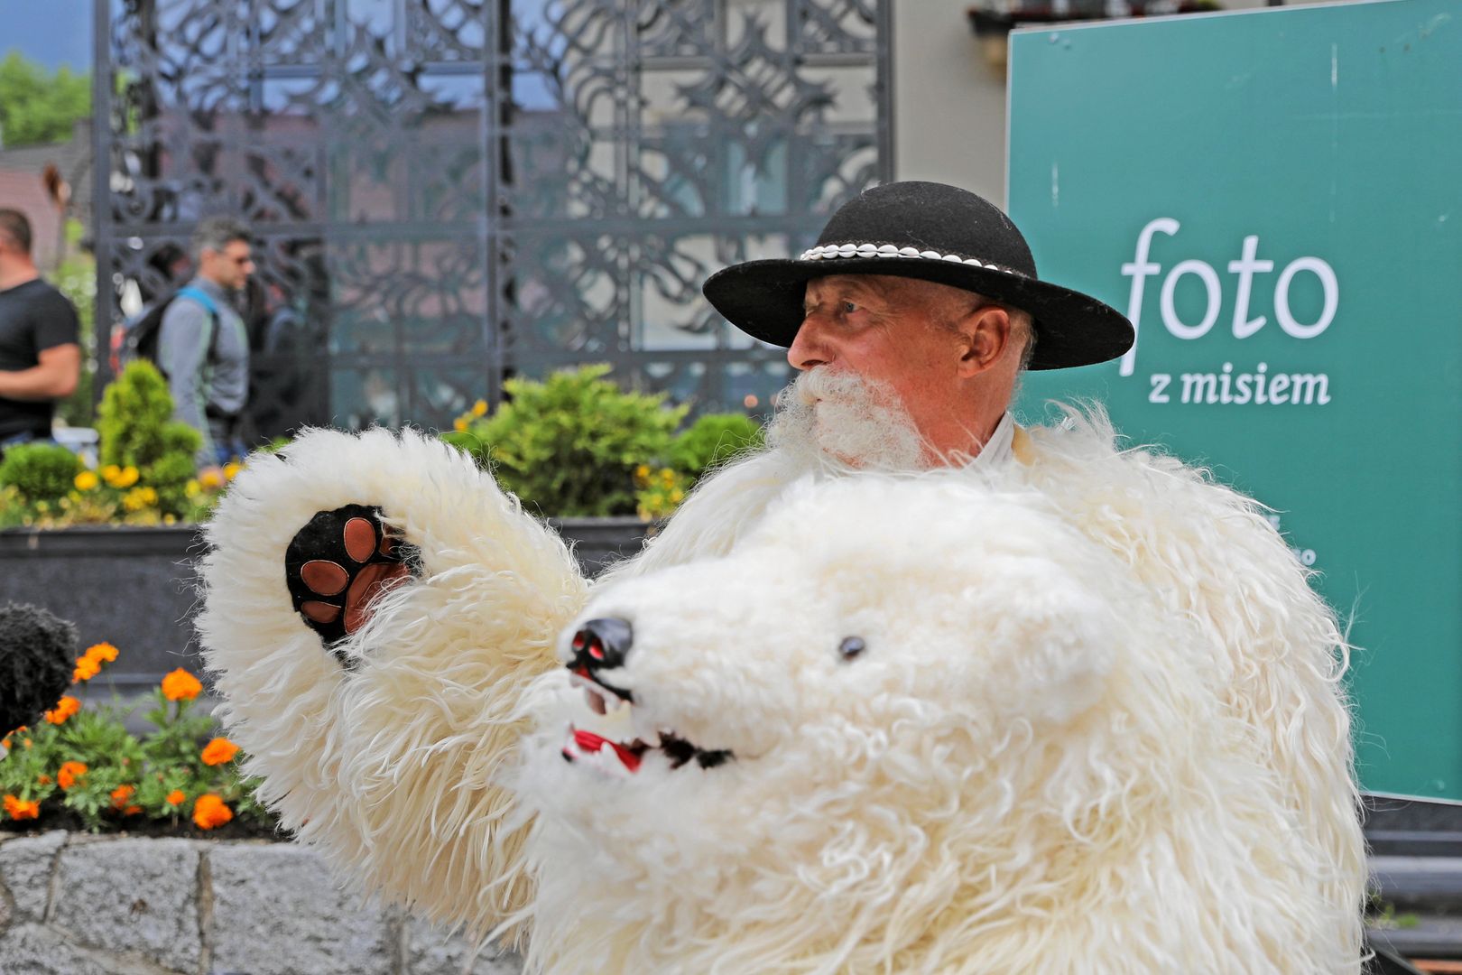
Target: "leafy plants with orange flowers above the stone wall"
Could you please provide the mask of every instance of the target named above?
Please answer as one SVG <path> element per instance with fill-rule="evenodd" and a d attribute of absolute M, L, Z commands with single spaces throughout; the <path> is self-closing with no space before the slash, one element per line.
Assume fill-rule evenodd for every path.
<path fill-rule="evenodd" d="M 161 688 L 152 703 L 146 718 L 154 731 L 140 738 L 127 731 L 130 709 L 115 705 L 83 706 L 60 724 L 13 732 L 9 756 L 0 757 L 0 820 L 31 819 L 15 816 L 16 804 L 35 801 L 41 817 L 67 810 L 92 832 L 124 829 L 136 816 L 177 826 L 200 795 L 212 794 L 235 816 L 266 824 L 238 757 L 203 760 L 206 743 L 219 734 L 213 718 L 194 713 L 192 699 L 168 700 Z"/>

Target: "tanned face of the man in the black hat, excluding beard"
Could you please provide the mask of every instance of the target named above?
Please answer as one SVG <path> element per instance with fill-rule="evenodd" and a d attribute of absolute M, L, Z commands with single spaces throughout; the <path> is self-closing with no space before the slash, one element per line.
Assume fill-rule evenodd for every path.
<path fill-rule="evenodd" d="M 849 371 L 890 393 L 933 446 L 958 422 L 961 336 L 947 323 L 977 304 L 956 288 L 887 275 L 807 282 L 806 317 L 787 360 Z"/>

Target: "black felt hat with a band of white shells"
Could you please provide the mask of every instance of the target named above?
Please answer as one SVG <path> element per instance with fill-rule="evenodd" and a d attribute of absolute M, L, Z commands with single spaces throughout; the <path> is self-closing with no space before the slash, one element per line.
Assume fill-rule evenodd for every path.
<path fill-rule="evenodd" d="M 829 275 L 936 281 L 1029 311 L 1037 336 L 1031 368 L 1105 363 L 1132 348 L 1136 336 L 1116 308 L 1039 281 L 1010 218 L 943 183 L 867 190 L 839 208 L 817 244 L 798 257 L 734 265 L 711 275 L 703 291 L 731 325 L 788 346 L 803 325 L 807 282 Z"/>

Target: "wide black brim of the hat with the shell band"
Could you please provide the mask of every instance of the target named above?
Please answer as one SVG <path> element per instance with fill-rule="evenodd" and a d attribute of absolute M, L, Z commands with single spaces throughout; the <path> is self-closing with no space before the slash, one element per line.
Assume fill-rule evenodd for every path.
<path fill-rule="evenodd" d="M 1123 355 L 1136 332 L 1111 306 L 1070 288 L 994 268 L 920 257 L 751 260 L 718 270 L 702 292 L 747 335 L 789 346 L 803 325 L 803 298 L 813 278 L 893 275 L 933 281 L 1009 303 L 1035 319 L 1032 370 L 1092 365 Z"/>

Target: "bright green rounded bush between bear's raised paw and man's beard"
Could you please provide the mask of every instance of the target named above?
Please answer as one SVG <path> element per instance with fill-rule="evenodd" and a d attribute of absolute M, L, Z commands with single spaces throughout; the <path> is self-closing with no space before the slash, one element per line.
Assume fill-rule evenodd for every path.
<path fill-rule="evenodd" d="M 665 395 L 621 392 L 608 365 L 504 383 L 510 401 L 456 437 L 526 504 L 560 517 L 633 515 L 635 469 L 662 458 L 686 406 Z M 447 434 L 452 437 L 452 434 Z"/>

